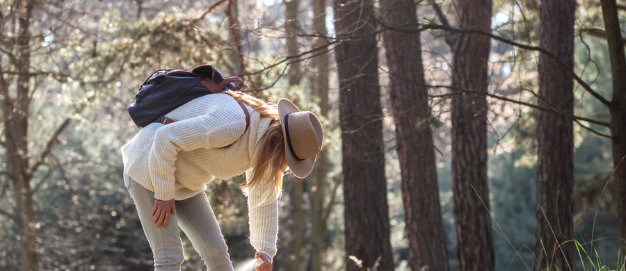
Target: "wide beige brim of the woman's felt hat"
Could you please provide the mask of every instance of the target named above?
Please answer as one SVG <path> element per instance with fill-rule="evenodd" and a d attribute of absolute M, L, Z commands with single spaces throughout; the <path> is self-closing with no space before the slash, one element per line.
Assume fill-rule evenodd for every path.
<path fill-rule="evenodd" d="M 284 116 L 289 113 L 300 112 L 300 109 L 298 109 L 298 107 L 294 103 L 284 98 L 278 100 L 276 106 L 278 107 L 278 117 L 280 117 L 282 134 L 285 135 L 286 131 L 284 127 Z M 291 154 L 291 149 L 289 149 L 289 143 L 287 143 L 286 136 L 284 137 L 284 156 L 287 159 L 287 165 L 289 165 L 289 169 L 291 170 L 291 172 L 293 172 L 294 175 L 296 175 L 300 179 L 306 178 L 307 176 L 309 176 L 309 174 L 311 174 L 311 171 L 313 170 L 313 165 L 315 165 L 315 159 L 317 158 L 317 156 L 313 156 L 311 158 L 306 158 L 302 161 L 298 161 L 298 159 L 296 159 L 294 155 Z"/>

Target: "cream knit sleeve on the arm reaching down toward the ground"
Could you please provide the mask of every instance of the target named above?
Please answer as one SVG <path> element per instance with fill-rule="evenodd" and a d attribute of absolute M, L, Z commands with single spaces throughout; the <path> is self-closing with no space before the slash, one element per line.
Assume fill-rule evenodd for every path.
<path fill-rule="evenodd" d="M 246 172 L 250 176 L 251 171 Z M 278 198 L 271 197 L 273 187 L 248 190 L 250 243 L 257 252 L 275 256 L 278 240 Z"/>

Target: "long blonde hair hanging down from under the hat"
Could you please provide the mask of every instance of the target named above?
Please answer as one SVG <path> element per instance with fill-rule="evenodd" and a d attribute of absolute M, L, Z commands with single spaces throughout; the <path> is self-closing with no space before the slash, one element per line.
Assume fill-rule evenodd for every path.
<path fill-rule="evenodd" d="M 284 136 L 278 109 L 275 105 L 266 104 L 262 99 L 252 97 L 243 92 L 225 91 L 224 93 L 243 101 L 261 114 L 261 117 L 270 117 L 270 125 L 261 138 L 260 157 L 252 165 L 254 170 L 248 176 L 248 181 L 242 186 L 242 190 L 247 194 L 250 190 L 255 190 L 262 186 L 273 186 L 272 194 L 266 195 L 268 199 L 280 196 L 282 192 L 282 175 L 287 169 L 287 159 L 284 156 Z M 272 176 L 271 179 L 265 179 Z"/>

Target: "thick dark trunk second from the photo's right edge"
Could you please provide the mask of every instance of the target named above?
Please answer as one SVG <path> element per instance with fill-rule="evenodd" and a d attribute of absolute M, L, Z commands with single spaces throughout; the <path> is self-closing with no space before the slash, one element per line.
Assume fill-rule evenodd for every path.
<path fill-rule="evenodd" d="M 540 47 L 574 66 L 574 0 L 540 4 Z M 539 106 L 573 115 L 574 81 L 544 54 L 539 56 Z M 574 137 L 572 120 L 540 110 L 537 122 L 537 207 L 533 270 L 571 270 Z"/>

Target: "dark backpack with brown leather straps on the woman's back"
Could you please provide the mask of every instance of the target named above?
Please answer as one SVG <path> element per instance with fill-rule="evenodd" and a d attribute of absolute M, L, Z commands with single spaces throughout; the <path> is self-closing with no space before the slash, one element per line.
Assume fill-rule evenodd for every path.
<path fill-rule="evenodd" d="M 225 90 L 239 91 L 243 87 L 241 78 L 232 76 L 224 79 L 218 69 L 211 65 L 200 65 L 194 69 L 160 69 L 143 82 L 128 106 L 128 113 L 139 128 L 152 122 L 169 124 L 175 122 L 166 113 L 195 98 Z M 246 113 L 246 130 L 250 115 L 242 101 L 239 105 Z"/>

